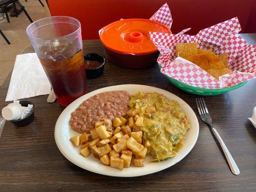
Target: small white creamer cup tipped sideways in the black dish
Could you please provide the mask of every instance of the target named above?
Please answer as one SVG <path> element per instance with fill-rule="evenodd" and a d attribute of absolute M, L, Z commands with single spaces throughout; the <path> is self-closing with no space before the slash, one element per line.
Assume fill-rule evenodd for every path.
<path fill-rule="evenodd" d="M 21 118 L 22 109 L 20 104 L 10 103 L 2 109 L 2 116 L 5 120 L 19 120 Z"/>

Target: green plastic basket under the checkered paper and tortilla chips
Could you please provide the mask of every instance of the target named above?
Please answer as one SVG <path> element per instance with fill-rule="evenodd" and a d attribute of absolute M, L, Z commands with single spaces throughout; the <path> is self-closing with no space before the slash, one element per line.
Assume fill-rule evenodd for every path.
<path fill-rule="evenodd" d="M 162 67 L 158 64 L 159 69 L 161 69 Z M 242 87 L 244 84 L 247 83 L 247 81 L 242 82 L 240 84 L 234 85 L 232 87 L 226 87 L 226 88 L 222 88 L 222 89 L 204 89 L 204 88 L 199 88 L 199 87 L 194 87 L 188 84 L 184 84 L 182 82 L 179 82 L 176 79 L 172 79 L 171 77 L 165 75 L 166 78 L 172 83 L 174 84 L 176 87 L 182 89 L 183 91 L 186 91 L 188 93 L 192 93 L 195 95 L 200 95 L 200 96 L 217 96 L 223 93 L 227 93 L 229 91 L 235 90 L 239 87 Z"/>

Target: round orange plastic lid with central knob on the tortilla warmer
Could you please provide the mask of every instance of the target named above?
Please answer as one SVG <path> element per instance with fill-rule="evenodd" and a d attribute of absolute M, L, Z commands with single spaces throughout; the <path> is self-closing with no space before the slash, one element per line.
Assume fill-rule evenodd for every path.
<path fill-rule="evenodd" d="M 111 50 L 130 53 L 146 54 L 158 49 L 149 37 L 149 32 L 171 34 L 164 24 L 148 19 L 123 19 L 104 27 L 100 32 L 103 45 Z"/>

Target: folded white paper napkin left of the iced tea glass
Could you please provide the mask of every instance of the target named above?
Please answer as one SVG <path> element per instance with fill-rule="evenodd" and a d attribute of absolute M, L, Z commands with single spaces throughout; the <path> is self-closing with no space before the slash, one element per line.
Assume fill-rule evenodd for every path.
<path fill-rule="evenodd" d="M 36 53 L 17 55 L 5 101 L 47 95 L 51 86 Z"/>

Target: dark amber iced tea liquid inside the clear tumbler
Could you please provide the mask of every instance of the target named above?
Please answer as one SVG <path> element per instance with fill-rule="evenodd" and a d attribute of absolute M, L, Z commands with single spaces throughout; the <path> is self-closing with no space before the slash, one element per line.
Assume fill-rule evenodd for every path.
<path fill-rule="evenodd" d="M 39 60 L 61 105 L 68 106 L 87 93 L 83 50 L 68 59 Z"/>

